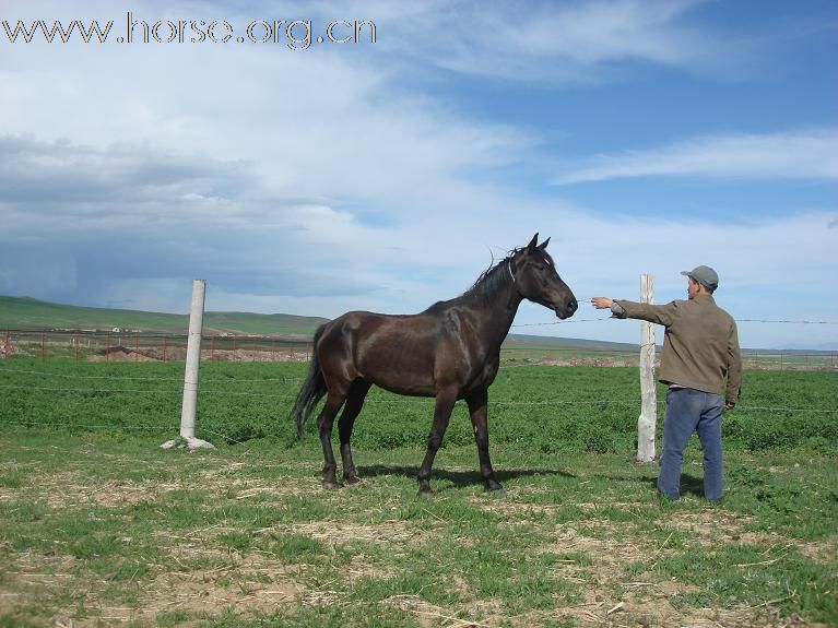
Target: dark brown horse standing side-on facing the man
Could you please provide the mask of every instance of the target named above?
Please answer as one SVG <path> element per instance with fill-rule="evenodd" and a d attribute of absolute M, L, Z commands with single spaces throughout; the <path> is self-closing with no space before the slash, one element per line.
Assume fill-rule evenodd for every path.
<path fill-rule="evenodd" d="M 554 310 L 560 319 L 573 316 L 577 308 L 574 293 L 545 250 L 550 238 L 541 245 L 538 240 L 535 234 L 528 246 L 514 250 L 477 277 L 462 296 L 436 303 L 422 313 L 352 311 L 317 330 L 311 368 L 292 416 L 302 437 L 306 419 L 326 395 L 317 418 L 324 488 L 338 487 L 331 434 L 341 406 L 338 429 L 343 477 L 347 483 L 358 481 L 350 438 L 373 384 L 399 394 L 436 398 L 427 453 L 418 472 L 420 493 L 432 493 L 430 467 L 459 399 L 469 405 L 486 488 L 501 488 L 488 457 L 486 420 L 488 387 L 497 375 L 500 343 L 523 299 Z"/>

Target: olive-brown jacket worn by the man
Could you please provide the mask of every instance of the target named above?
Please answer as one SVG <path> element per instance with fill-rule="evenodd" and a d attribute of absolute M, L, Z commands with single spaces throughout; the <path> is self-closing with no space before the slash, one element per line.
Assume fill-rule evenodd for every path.
<path fill-rule="evenodd" d="M 617 318 L 647 320 L 666 328 L 659 379 L 739 401 L 742 356 L 736 322 L 709 295 L 666 305 L 614 299 Z M 622 309 L 622 312 L 619 311 Z M 725 387 L 727 377 L 727 387 Z"/>

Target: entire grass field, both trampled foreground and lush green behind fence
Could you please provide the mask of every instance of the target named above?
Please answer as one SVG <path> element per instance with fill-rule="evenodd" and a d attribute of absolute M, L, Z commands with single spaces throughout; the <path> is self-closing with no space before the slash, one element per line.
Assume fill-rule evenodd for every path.
<path fill-rule="evenodd" d="M 182 365 L 0 363 L 0 626 L 838 625 L 836 374 L 746 372 L 712 506 L 695 443 L 685 496 L 654 496 L 621 368 L 501 369 L 504 495 L 458 408 L 417 497 L 429 402 L 381 392 L 363 483 L 324 491 L 287 420 L 304 371 L 202 366 L 217 449 L 188 453 L 157 447 Z"/>

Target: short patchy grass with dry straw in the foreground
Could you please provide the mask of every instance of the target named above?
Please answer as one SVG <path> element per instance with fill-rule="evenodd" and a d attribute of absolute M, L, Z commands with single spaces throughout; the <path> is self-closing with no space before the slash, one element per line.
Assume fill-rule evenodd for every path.
<path fill-rule="evenodd" d="M 500 451 L 506 494 L 491 495 L 471 447 L 440 452 L 425 499 L 420 458 L 358 451 L 364 482 L 326 491 L 311 441 L 186 453 L 4 434 L 17 479 L 0 485 L 0 625 L 838 620 L 834 459 L 729 452 L 725 502 L 711 506 L 660 501 L 654 466 L 581 452 Z M 766 508 L 766 490 L 784 506 Z"/>

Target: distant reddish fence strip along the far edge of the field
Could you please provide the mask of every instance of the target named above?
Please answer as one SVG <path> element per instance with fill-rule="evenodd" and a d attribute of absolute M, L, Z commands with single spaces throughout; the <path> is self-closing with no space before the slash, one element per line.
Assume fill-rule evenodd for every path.
<path fill-rule="evenodd" d="M 602 319 L 607 320 L 607 319 Z M 0 336 L 0 359 L 9 356 L 42 360 L 75 362 L 184 362 L 187 334 L 129 331 L 5 330 Z M 551 346 L 507 339 L 501 362 L 508 366 L 545 364 L 557 366 L 638 367 L 640 347 L 611 348 L 597 343 Z M 310 337 L 215 334 L 202 336 L 202 362 L 308 362 Z M 838 351 L 743 351 L 745 368 L 771 370 L 836 370 Z"/>

